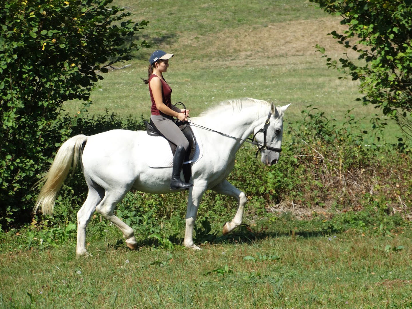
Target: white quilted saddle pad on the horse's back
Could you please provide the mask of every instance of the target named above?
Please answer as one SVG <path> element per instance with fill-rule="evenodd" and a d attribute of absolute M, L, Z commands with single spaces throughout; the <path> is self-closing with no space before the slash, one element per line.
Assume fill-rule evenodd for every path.
<path fill-rule="evenodd" d="M 203 147 L 197 129 L 194 126 L 191 126 L 191 128 L 197 145 L 192 159 L 184 163 L 194 164 L 202 157 Z M 148 134 L 145 135 L 145 138 L 147 138 L 147 140 L 144 141 L 145 144 L 152 145 L 151 147 L 147 147 L 147 165 L 154 168 L 173 166 L 173 153 L 166 138 L 162 136 L 150 136 Z"/>

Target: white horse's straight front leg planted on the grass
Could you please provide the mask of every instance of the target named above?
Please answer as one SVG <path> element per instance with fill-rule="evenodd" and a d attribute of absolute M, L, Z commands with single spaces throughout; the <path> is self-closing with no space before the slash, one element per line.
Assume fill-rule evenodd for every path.
<path fill-rule="evenodd" d="M 193 226 L 194 222 L 196 221 L 199 203 L 204 192 L 206 191 L 206 187 L 206 182 L 195 183 L 193 187 L 189 188 L 189 197 L 187 199 L 186 229 L 183 245 L 185 245 L 185 247 L 187 248 L 192 248 L 195 250 L 199 250 L 200 248 L 193 242 Z"/>

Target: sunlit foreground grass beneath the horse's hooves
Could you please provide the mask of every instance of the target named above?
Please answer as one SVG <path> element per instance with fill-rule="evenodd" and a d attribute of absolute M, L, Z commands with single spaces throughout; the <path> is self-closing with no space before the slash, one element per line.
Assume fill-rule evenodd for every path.
<path fill-rule="evenodd" d="M 234 236 L 201 251 L 133 252 L 113 248 L 110 236 L 89 245 L 93 258 L 75 258 L 74 241 L 52 250 L 9 248 L 0 255 L 0 307 L 412 307 L 410 227 L 391 237 L 290 234 L 281 223 L 255 239 L 245 229 L 252 239 Z"/>

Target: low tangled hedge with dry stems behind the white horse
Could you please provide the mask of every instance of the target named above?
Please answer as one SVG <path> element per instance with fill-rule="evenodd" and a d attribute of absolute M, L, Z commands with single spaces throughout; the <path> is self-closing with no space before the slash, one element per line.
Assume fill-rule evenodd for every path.
<path fill-rule="evenodd" d="M 363 231 L 371 226 L 384 234 L 402 225 L 403 216 L 408 214 L 412 204 L 410 155 L 398 152 L 396 145 L 374 146 L 350 111 L 343 125 L 328 119 L 316 108 L 308 107 L 302 113 L 302 122 L 288 124 L 287 139 L 275 166 L 265 166 L 256 159 L 254 147 L 242 147 L 236 155 L 235 167 L 228 180 L 248 198 L 245 217 L 267 218 L 265 229 L 282 222 L 287 231 L 297 227 L 321 234 L 346 229 Z M 141 119 L 129 117 L 124 120 L 115 114 L 78 118 L 75 126 L 71 126 L 72 121 L 70 117 L 63 117 L 63 122 L 70 124 L 67 127 L 74 134 L 120 128 L 143 129 Z M 366 142 L 371 147 L 365 147 Z M 59 144 L 59 140 L 56 143 Z M 44 233 L 61 239 L 53 228 L 60 226 L 64 230 L 65 225 L 76 222 L 76 213 L 86 194 L 87 187 L 78 169 L 59 194 L 54 218 L 35 217 L 38 222 L 30 227 L 30 231 L 39 233 L 35 236 L 37 241 L 43 237 L 43 226 L 46 228 Z M 183 237 L 186 203 L 187 192 L 164 195 L 129 192 L 117 206 L 116 214 L 135 229 L 140 244 L 168 248 L 180 243 Z M 309 209 L 310 215 L 302 216 L 302 219 L 312 220 L 295 221 L 293 216 L 278 217 L 273 213 L 293 209 L 297 213 Z M 227 239 L 226 236 L 218 237 L 218 233 L 222 223 L 233 218 L 235 210 L 234 199 L 206 192 L 195 227 L 197 241 Z M 109 223 L 92 221 L 88 229 L 90 234 L 94 237 L 103 235 L 102 230 L 107 229 Z M 290 224 L 293 226 L 288 227 Z M 112 228 L 121 237 L 120 232 Z M 249 236 L 252 232 L 260 233 L 259 227 L 252 226 L 254 231 L 246 228 L 241 231 Z M 58 243 L 54 240 L 54 245 Z"/>

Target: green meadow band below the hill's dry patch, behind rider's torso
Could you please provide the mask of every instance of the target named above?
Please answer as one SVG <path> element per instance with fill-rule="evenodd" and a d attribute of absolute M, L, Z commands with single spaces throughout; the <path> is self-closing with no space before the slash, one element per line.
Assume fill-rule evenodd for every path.
<path fill-rule="evenodd" d="M 175 69 L 172 67 L 171 69 Z M 199 65 L 200 66 L 200 65 Z M 301 64 L 289 65 L 285 69 L 281 64 L 256 68 L 255 66 L 219 67 L 209 70 L 206 66 L 194 72 L 176 68 L 167 73 L 167 80 L 173 84 L 173 98 L 191 108 L 193 115 L 198 115 L 206 108 L 228 98 L 261 98 L 277 102 L 279 105 L 292 103 L 288 117 L 298 120 L 300 110 L 307 105 L 331 105 L 335 108 L 329 113 L 343 115 L 346 109 L 355 106 L 356 91 L 351 83 L 335 80 L 336 87 L 331 87 L 328 80 L 331 71 L 311 67 L 302 68 Z M 141 82 L 136 69 L 110 73 L 97 89 L 92 99 L 94 104 L 90 112 L 117 112 L 124 115 L 150 115 L 150 98 L 147 86 Z M 245 73 L 247 72 L 247 74 Z M 166 76 L 166 74 L 165 74 Z M 170 77 L 169 77 L 170 76 Z M 250 79 L 253 76 L 254 79 Z M 271 76 L 269 79 L 267 76 Z M 126 77 L 126 78 L 125 78 Z M 133 91 L 130 91 L 133 89 Z M 342 94 L 342 96 L 341 96 Z M 344 101 L 351 97 L 351 104 Z M 149 103 L 148 103 L 149 102 Z M 69 109 L 75 113 L 75 109 Z"/>

